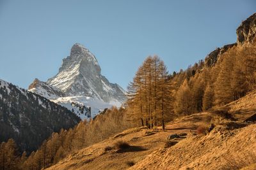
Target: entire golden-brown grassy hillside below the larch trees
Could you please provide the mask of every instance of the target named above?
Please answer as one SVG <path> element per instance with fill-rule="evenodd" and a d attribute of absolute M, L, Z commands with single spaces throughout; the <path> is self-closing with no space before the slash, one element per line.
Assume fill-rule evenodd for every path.
<path fill-rule="evenodd" d="M 256 92 L 227 106 L 235 118 L 245 120 L 255 113 L 254 101 Z M 195 134 L 198 126 L 208 127 L 214 118 L 210 112 L 182 117 L 170 122 L 166 132 L 129 129 L 73 153 L 49 169 L 239 169 L 252 164 L 256 125 L 221 120 L 210 133 Z M 188 135 L 172 139 L 166 148 L 168 135 L 175 133 Z M 120 149 L 115 146 L 118 141 L 130 146 Z"/>

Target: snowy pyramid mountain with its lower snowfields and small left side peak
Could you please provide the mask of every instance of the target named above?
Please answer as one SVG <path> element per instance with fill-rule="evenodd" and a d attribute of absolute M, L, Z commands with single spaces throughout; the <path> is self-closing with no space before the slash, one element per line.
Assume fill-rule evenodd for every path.
<path fill-rule="evenodd" d="M 69 110 L 77 110 L 77 107 L 70 107 L 71 103 L 88 106 L 94 117 L 100 110 L 113 105 L 121 106 L 127 99 L 125 90 L 116 83 L 110 83 L 100 71 L 95 56 L 83 45 L 76 43 L 71 48 L 70 56 L 63 59 L 58 74 L 46 82 L 36 79 L 29 86 L 29 91 Z M 81 112 L 79 117 L 86 118 Z"/>

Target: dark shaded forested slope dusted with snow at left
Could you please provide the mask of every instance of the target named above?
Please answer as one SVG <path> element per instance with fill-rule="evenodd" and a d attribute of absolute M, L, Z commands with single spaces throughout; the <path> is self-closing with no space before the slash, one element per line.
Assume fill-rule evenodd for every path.
<path fill-rule="evenodd" d="M 13 138 L 21 151 L 32 152 L 52 132 L 80 120 L 67 108 L 0 79 L 0 143 Z"/>

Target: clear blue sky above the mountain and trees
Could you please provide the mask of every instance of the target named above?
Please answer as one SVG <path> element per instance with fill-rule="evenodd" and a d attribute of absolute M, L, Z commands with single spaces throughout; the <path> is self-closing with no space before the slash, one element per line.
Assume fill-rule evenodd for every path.
<path fill-rule="evenodd" d="M 186 69 L 236 28 L 256 1 L 0 0 L 0 78 L 28 88 L 54 76 L 74 43 L 88 48 L 102 74 L 126 89 L 145 57 Z"/>

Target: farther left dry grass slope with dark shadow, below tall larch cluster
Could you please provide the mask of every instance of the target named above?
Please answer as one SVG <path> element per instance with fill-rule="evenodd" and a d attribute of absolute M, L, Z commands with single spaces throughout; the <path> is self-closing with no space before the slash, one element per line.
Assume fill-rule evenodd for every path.
<path fill-rule="evenodd" d="M 148 136 L 149 131 L 145 127 L 129 129 L 84 148 L 49 169 L 127 169 L 164 146 L 166 136 L 170 134 L 159 132 Z M 122 147 L 118 143 L 120 141 L 128 145 Z"/>

